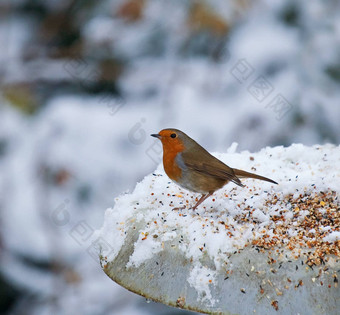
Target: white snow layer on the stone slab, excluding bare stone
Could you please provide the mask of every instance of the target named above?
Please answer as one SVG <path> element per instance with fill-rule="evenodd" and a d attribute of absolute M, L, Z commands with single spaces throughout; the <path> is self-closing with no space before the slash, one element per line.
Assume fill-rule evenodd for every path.
<path fill-rule="evenodd" d="M 235 144 L 229 151 L 234 150 Z M 97 232 L 117 254 L 134 221 L 143 222 L 144 227 L 127 267 L 138 267 L 147 262 L 153 254 L 163 250 L 164 242 L 177 234 L 181 237 L 179 249 L 192 260 L 193 270 L 188 282 L 199 295 L 205 292 L 206 298 L 210 296 L 210 283 L 207 283 L 205 274 L 211 275 L 214 270 L 201 266 L 204 254 L 214 261 L 215 270 L 219 270 L 228 262 L 229 253 L 248 246 L 262 235 L 273 237 L 273 229 L 282 227 L 282 220 L 287 225 L 288 242 L 303 230 L 301 222 L 311 209 L 296 209 L 287 202 L 287 197 L 291 195 L 299 199 L 301 194 L 317 198 L 318 192 L 338 191 L 340 187 L 340 147 L 334 145 L 307 147 L 293 144 L 286 148 L 267 147 L 257 153 L 244 151 L 214 155 L 229 166 L 270 177 L 279 184 L 244 179 L 246 187 L 241 188 L 229 183 L 193 211 L 190 206 L 199 196 L 178 187 L 160 165 L 138 183 L 131 194 L 116 198 L 114 208 L 106 211 L 103 228 Z M 266 205 L 273 198 L 277 202 Z M 339 204 L 339 200 L 337 202 Z M 324 205 L 323 201 L 320 204 Z M 173 210 L 182 205 L 187 208 Z M 319 209 L 322 214 L 324 208 Z M 280 220 L 273 220 L 281 215 Z M 324 241 L 335 242 L 339 238 L 340 231 L 331 231 L 330 226 L 321 226 L 319 230 L 330 231 Z M 101 254 L 106 256 L 107 253 L 104 250 Z M 115 255 L 110 256 L 109 260 L 114 258 Z M 210 302 L 213 303 L 213 299 Z"/>

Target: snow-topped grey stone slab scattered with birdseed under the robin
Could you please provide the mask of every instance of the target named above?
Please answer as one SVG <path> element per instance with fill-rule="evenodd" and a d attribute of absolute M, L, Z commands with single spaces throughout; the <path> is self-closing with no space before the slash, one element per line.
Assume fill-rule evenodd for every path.
<path fill-rule="evenodd" d="M 104 272 L 202 313 L 338 314 L 340 147 L 231 151 L 215 156 L 279 185 L 230 183 L 193 211 L 199 195 L 160 165 L 106 211 L 95 241 Z"/>

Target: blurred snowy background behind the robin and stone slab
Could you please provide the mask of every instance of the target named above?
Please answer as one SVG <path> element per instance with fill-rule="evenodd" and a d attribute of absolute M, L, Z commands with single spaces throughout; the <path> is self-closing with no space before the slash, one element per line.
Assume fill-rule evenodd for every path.
<path fill-rule="evenodd" d="M 161 161 L 150 133 L 340 143 L 337 0 L 5 0 L 0 16 L 1 313 L 190 313 L 120 288 L 91 248 Z"/>

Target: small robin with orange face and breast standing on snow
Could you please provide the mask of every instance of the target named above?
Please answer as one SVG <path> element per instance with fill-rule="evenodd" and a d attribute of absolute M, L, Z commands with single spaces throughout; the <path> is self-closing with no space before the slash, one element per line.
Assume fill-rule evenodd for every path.
<path fill-rule="evenodd" d="M 151 136 L 162 141 L 165 173 L 179 186 L 202 194 L 193 210 L 230 181 L 241 187 L 240 178 L 277 184 L 267 177 L 229 167 L 178 129 L 163 129 Z"/>

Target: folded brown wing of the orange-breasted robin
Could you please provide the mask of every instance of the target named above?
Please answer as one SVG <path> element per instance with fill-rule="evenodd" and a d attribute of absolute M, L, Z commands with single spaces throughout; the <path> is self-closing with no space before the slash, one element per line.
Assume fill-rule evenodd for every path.
<path fill-rule="evenodd" d="M 203 147 L 200 147 L 199 154 L 197 154 L 195 150 L 182 152 L 181 160 L 185 166 L 191 170 L 216 178 L 229 180 L 236 185 L 244 187 L 231 167 L 215 158 Z"/>

